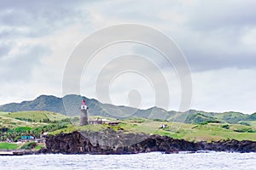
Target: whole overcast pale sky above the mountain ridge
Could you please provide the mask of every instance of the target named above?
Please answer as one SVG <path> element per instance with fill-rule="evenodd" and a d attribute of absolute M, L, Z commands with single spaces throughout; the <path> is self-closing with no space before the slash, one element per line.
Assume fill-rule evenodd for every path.
<path fill-rule="evenodd" d="M 65 67 L 79 42 L 102 28 L 133 23 L 164 32 L 176 42 L 191 71 L 191 109 L 256 112 L 253 0 L 0 2 L 0 105 L 35 99 L 41 94 L 61 97 Z M 89 71 L 81 75 L 81 94 L 109 103 L 98 96 L 96 77 L 105 69 L 102 59 L 122 54 L 158 59 L 154 63 L 160 59 L 160 54 L 140 44 L 124 42 L 103 49 L 85 68 Z M 157 71 L 140 65 L 139 59 L 133 63 L 143 68 L 149 81 L 136 72 L 115 75 L 109 82 L 111 103 L 129 105 L 134 102 L 129 101 L 133 96 L 131 99 L 143 101 L 131 106 L 152 107 L 155 89 L 148 82 L 150 77 L 158 77 Z M 181 88 L 175 70 L 161 65 L 157 69 L 165 75 L 170 89 L 170 105 L 165 109 L 177 111 Z M 108 71 L 102 80 L 109 76 Z M 155 86 L 159 88 L 160 84 Z"/>

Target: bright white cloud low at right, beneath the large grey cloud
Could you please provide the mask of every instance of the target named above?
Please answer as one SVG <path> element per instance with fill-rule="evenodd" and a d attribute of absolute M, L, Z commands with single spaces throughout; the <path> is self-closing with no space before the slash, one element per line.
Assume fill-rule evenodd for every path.
<path fill-rule="evenodd" d="M 193 108 L 205 111 L 255 112 L 256 69 L 226 68 L 197 72 Z"/>

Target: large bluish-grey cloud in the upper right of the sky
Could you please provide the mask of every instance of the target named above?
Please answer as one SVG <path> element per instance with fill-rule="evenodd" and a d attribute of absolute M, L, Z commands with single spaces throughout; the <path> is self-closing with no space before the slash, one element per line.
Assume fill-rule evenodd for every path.
<path fill-rule="evenodd" d="M 253 1 L 201 1 L 188 8 L 175 37 L 192 71 L 255 68 L 256 52 L 241 40 L 256 29 L 255 6 Z"/>

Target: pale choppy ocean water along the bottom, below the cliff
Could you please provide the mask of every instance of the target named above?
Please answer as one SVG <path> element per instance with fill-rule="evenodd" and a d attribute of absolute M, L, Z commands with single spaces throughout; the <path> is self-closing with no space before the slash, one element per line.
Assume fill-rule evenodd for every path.
<path fill-rule="evenodd" d="M 0 169 L 252 169 L 256 153 L 0 156 Z"/>

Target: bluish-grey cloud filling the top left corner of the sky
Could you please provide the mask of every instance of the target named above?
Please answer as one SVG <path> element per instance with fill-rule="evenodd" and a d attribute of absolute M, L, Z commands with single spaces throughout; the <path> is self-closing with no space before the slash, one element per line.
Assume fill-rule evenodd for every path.
<path fill-rule="evenodd" d="M 65 26 L 88 22 L 86 11 L 79 8 L 83 1 L 4 1 L 1 3 L 0 24 L 13 29 L 2 33 L 9 37 L 38 37 Z M 86 2 L 88 3 L 88 2 Z M 57 4 L 57 5 L 56 5 Z M 19 32 L 17 28 L 28 29 Z M 1 34 L 1 32 L 0 32 Z"/>

